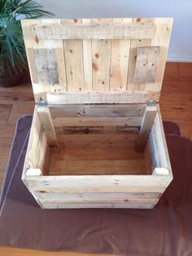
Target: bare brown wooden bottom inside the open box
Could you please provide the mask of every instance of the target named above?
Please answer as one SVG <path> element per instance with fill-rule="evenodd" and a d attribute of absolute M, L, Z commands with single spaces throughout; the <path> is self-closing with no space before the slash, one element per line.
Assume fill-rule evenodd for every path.
<path fill-rule="evenodd" d="M 50 175 L 146 174 L 137 133 L 64 135 L 59 152 L 50 152 Z"/>

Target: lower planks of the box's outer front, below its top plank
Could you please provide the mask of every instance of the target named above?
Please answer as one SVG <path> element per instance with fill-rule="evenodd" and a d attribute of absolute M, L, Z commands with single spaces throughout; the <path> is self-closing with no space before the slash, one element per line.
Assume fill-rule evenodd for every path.
<path fill-rule="evenodd" d="M 44 208 L 152 208 L 160 193 L 34 193 Z"/>

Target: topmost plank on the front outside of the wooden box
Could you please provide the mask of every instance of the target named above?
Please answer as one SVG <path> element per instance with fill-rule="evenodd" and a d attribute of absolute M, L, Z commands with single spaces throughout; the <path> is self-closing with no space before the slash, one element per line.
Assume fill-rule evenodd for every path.
<path fill-rule="evenodd" d="M 170 183 L 169 175 L 61 175 L 26 178 L 33 192 L 157 192 Z"/>

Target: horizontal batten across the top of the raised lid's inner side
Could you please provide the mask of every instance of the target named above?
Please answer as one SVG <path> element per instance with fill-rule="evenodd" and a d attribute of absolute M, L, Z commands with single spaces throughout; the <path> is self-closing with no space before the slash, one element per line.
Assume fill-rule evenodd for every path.
<path fill-rule="evenodd" d="M 154 38 L 155 24 L 38 24 L 40 39 L 143 39 Z"/>

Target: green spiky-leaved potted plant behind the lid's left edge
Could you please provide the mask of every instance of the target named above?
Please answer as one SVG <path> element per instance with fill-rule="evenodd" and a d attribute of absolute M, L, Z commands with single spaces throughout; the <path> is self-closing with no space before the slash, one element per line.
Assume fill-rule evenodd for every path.
<path fill-rule="evenodd" d="M 33 0 L 0 1 L 0 86 L 13 86 L 28 68 L 21 19 L 53 15 Z"/>

